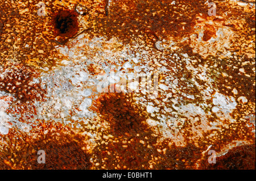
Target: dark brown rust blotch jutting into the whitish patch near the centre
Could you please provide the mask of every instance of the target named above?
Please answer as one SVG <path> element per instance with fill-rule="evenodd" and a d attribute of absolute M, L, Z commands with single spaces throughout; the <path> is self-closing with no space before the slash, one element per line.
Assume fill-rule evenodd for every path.
<path fill-rule="evenodd" d="M 143 122 L 146 121 L 145 113 L 126 94 L 102 94 L 94 106 L 95 111 L 102 115 L 102 119 L 109 122 L 116 134 L 136 134 L 146 130 L 143 126 Z"/>

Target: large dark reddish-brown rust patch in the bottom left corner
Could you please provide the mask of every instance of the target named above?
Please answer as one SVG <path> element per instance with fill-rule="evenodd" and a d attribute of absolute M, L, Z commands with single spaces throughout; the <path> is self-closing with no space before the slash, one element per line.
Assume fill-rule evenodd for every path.
<path fill-rule="evenodd" d="M 8 137 L 13 148 L 1 150 L 1 169 L 76 170 L 92 166 L 82 141 L 85 138 L 69 128 L 57 123 L 42 123 L 33 134 L 10 131 Z M 15 141 L 16 137 L 22 139 Z M 38 163 L 39 150 L 45 151 L 46 163 Z"/>

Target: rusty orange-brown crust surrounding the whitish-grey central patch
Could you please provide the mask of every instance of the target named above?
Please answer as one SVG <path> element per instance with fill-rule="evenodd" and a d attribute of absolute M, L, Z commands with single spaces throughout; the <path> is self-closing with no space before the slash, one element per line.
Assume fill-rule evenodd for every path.
<path fill-rule="evenodd" d="M 67 43 L 68 48 L 72 47 L 75 43 L 68 44 L 68 41 L 81 32 L 88 33 L 88 38 L 115 37 L 131 46 L 139 39 L 142 48 L 154 49 L 151 53 L 155 58 L 170 59 L 170 53 L 187 53 L 197 60 L 195 68 L 209 67 L 214 86 L 221 94 L 234 96 L 236 100 L 246 96 L 248 102 L 238 102 L 237 109 L 231 114 L 236 123 L 220 121 L 214 114 L 207 117 L 212 123 L 218 120 L 223 125 L 217 130 L 201 130 L 203 137 L 199 139 L 193 130 L 201 120 L 188 120 L 183 128 L 177 128 L 177 132 L 184 131 L 184 146 L 176 146 L 171 139 L 158 140 L 160 136 L 146 123 L 150 115 L 141 105 L 134 103 L 133 94 L 102 93 L 92 110 L 98 115 L 94 121 L 108 127 L 104 131 L 89 130 L 92 134 L 100 134 L 96 146 L 87 147 L 89 138 L 81 136 L 88 127 L 77 131 L 68 125 L 56 124 L 54 120 L 49 123 L 36 120 L 30 133 L 13 127 L 7 135 L 1 134 L 4 148 L 0 150 L 0 169 L 255 169 L 255 145 L 234 147 L 217 157 L 217 163 L 211 165 L 206 158 L 209 155 L 202 154 L 209 145 L 218 153 L 232 141 L 255 144 L 255 134 L 251 132 L 255 125 L 247 127 L 249 122 L 245 119 L 245 116 L 255 113 L 255 12 L 222 1 L 215 1 L 216 18 L 208 16 L 208 6 L 204 1 L 179 0 L 176 6 L 172 0 L 113 0 L 108 6 L 105 0 L 47 1 L 47 15 L 38 16 L 38 2 L 0 2 L 0 91 L 10 93 L 0 100 L 9 100 L 10 107 L 3 108 L 3 111 L 20 115 L 22 123 L 34 120 L 37 112 L 33 103 L 44 101 L 47 92 L 46 87 L 40 87 L 42 70 L 57 67 L 67 58 L 55 46 Z M 77 5 L 82 7 L 82 13 L 76 10 Z M 227 39 L 212 45 L 210 39 L 218 37 L 219 28 L 225 30 Z M 200 43 L 197 31 L 204 33 Z M 163 39 L 176 42 L 174 52 L 156 48 L 156 41 Z M 225 43 L 230 47 L 223 47 Z M 227 50 L 232 53 L 232 58 L 225 57 Z M 176 66 L 167 63 L 167 68 Z M 157 68 L 153 61 L 151 64 L 152 69 Z M 182 69 L 175 67 L 179 78 L 191 82 L 196 79 L 202 87 L 206 85 L 207 82 L 195 78 L 186 69 L 185 62 L 178 64 L 182 65 Z M 90 64 L 87 69 L 92 75 L 102 73 L 97 64 Z M 188 87 L 187 82 L 179 82 L 184 85 L 186 93 L 200 95 L 197 86 Z M 13 102 L 14 98 L 18 102 Z M 202 102 L 200 96 L 196 101 L 196 104 Z M 215 133 L 216 136 L 210 137 Z M 46 151 L 47 159 L 51 160 L 49 164 L 37 163 L 38 150 Z"/>

